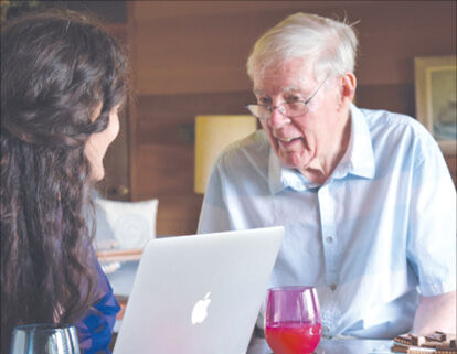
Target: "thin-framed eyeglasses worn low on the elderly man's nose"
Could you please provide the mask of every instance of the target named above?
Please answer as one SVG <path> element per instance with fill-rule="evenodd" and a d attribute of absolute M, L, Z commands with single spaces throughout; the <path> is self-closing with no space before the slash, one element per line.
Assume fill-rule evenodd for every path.
<path fill-rule="evenodd" d="M 316 90 L 312 93 L 312 95 L 307 100 L 297 100 L 297 101 L 291 101 L 291 103 L 285 101 L 277 106 L 253 104 L 253 105 L 246 105 L 246 108 L 251 111 L 251 114 L 254 117 L 261 120 L 268 120 L 272 117 L 272 114 L 275 109 L 278 109 L 281 115 L 288 118 L 295 118 L 295 117 L 306 115 L 308 112 L 308 104 L 316 96 L 316 94 L 323 86 L 323 84 L 327 82 L 328 78 L 329 76 L 326 77 L 326 79 L 318 86 L 318 88 L 316 88 Z"/>

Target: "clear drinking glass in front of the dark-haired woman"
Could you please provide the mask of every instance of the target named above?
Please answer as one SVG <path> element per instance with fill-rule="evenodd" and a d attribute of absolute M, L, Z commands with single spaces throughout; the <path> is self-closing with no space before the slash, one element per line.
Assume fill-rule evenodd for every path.
<path fill-rule="evenodd" d="M 79 354 L 73 325 L 26 324 L 14 328 L 10 354 Z"/>

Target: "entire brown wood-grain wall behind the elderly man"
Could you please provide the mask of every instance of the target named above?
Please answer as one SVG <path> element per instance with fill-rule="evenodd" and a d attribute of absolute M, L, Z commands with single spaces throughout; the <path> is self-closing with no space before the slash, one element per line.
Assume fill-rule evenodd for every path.
<path fill-rule="evenodd" d="M 196 230 L 194 116 L 245 114 L 252 45 L 298 11 L 360 21 L 361 107 L 414 116 L 414 57 L 456 52 L 455 1 L 129 1 L 131 199 L 159 199 L 158 235 Z"/>

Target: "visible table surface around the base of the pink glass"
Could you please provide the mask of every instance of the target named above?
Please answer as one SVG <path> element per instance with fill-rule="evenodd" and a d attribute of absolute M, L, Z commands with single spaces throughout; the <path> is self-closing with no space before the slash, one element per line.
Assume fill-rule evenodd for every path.
<path fill-rule="evenodd" d="M 392 354 L 392 341 L 355 340 L 355 339 L 321 339 L 316 354 Z M 273 354 L 263 339 L 253 341 L 246 354 Z"/>

